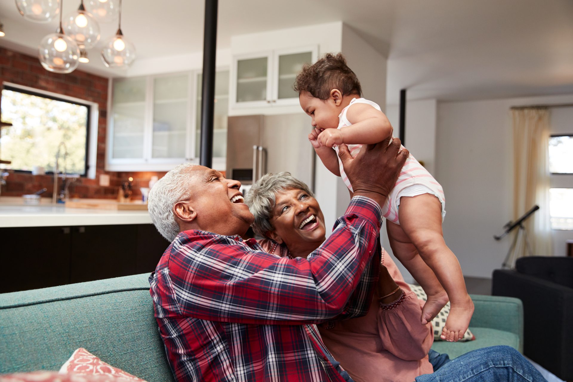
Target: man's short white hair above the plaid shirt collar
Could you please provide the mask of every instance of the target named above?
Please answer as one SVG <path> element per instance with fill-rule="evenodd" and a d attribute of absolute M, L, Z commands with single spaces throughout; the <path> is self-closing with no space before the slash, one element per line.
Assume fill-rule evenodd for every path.
<path fill-rule="evenodd" d="M 181 200 L 191 198 L 189 187 L 189 170 L 194 164 L 183 163 L 167 172 L 159 179 L 147 197 L 147 210 L 159 233 L 168 241 L 173 241 L 179 234 L 179 223 L 175 220 L 173 206 Z"/>

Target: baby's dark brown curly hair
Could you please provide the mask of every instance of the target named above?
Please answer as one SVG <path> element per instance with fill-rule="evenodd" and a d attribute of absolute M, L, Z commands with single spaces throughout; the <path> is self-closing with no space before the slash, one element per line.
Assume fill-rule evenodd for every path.
<path fill-rule="evenodd" d="M 327 100 L 332 89 L 338 89 L 343 96 L 359 94 L 362 87 L 356 74 L 346 65 L 342 53 L 327 53 L 314 64 L 305 64 L 296 76 L 296 92 L 309 92 L 320 100 Z"/>

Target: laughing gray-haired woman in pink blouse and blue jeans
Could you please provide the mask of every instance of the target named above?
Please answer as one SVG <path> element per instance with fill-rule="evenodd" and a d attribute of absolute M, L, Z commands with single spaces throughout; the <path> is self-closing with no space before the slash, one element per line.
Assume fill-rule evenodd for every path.
<path fill-rule="evenodd" d="M 307 185 L 288 172 L 267 174 L 246 198 L 253 229 L 269 253 L 307 256 L 325 240 L 324 216 Z M 321 325 L 324 344 L 356 382 L 541 382 L 543 376 L 509 346 L 489 346 L 450 361 L 430 349 L 431 324 L 421 325 L 421 302 L 381 250 L 378 288 L 364 317 Z M 432 372 L 434 371 L 434 372 Z M 547 381 L 545 381 L 547 382 Z"/>

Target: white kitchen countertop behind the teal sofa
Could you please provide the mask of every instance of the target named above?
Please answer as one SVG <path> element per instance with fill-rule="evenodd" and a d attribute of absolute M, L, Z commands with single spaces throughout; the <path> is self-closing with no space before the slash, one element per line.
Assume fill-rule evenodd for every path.
<path fill-rule="evenodd" d="M 95 208 L 69 208 L 42 198 L 38 205 L 25 205 L 22 198 L 0 196 L 0 227 L 101 226 L 147 224 L 147 211 L 116 211 Z"/>

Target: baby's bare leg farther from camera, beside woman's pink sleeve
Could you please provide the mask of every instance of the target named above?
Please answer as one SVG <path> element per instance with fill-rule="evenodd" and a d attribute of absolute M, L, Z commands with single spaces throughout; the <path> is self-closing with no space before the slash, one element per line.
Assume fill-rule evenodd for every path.
<path fill-rule="evenodd" d="M 386 231 L 395 257 L 426 292 L 427 300 L 422 308 L 421 317 L 422 325 L 426 325 L 444 308 L 448 302 L 448 294 L 435 277 L 434 271 L 420 257 L 418 250 L 402 227 L 386 220 Z"/>

